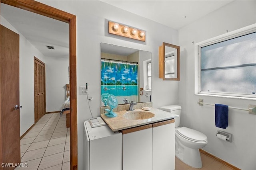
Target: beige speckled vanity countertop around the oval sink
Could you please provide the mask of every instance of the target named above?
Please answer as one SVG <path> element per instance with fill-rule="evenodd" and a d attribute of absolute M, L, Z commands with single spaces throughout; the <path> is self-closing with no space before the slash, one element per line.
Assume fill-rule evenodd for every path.
<path fill-rule="evenodd" d="M 145 111 L 145 110 L 135 109 L 133 111 Z M 176 114 L 163 111 L 160 109 L 152 108 L 151 110 L 149 110 L 149 112 L 154 113 L 155 114 L 154 117 L 151 117 L 150 119 L 131 120 L 123 117 L 123 115 L 127 112 L 130 112 L 130 111 L 123 110 L 123 111 L 115 112 L 117 114 L 116 117 L 106 117 L 106 115 L 102 113 L 100 117 L 102 117 L 102 119 L 108 124 L 108 126 L 112 129 L 112 131 L 120 131 L 120 130 L 128 129 L 131 127 L 147 125 L 147 124 L 156 123 L 159 121 L 169 120 L 174 117 L 178 117 L 178 115 Z"/>

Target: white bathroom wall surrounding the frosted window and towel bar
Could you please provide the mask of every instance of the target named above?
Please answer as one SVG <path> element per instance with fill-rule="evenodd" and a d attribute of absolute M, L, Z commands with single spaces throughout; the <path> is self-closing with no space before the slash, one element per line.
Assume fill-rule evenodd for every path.
<path fill-rule="evenodd" d="M 208 14 L 194 23 L 179 29 L 181 65 L 179 82 L 179 102 L 182 106 L 181 126 L 202 131 L 208 138 L 203 149 L 243 170 L 256 168 L 256 115 L 246 111 L 229 109 L 227 129 L 215 127 L 214 106 L 198 106 L 199 98 L 206 103 L 220 103 L 234 107 L 248 108 L 255 100 L 240 100 L 194 94 L 194 43 L 216 37 L 247 25 L 256 23 L 256 1 L 234 1 Z M 232 143 L 216 138 L 217 130 L 234 135 Z"/>

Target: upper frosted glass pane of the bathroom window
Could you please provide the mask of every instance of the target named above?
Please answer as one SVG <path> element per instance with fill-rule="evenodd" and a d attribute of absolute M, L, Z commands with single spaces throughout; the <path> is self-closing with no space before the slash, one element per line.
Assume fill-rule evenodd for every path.
<path fill-rule="evenodd" d="M 201 48 L 201 68 L 256 63 L 256 33 Z"/>

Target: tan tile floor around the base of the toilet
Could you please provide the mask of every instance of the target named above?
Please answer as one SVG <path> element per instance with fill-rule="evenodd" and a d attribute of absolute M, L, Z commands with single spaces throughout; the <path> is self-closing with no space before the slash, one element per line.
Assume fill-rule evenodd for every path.
<path fill-rule="evenodd" d="M 175 157 L 175 170 L 233 170 L 232 168 L 218 162 L 217 160 L 203 154 L 201 154 L 203 167 L 192 168 L 186 164 L 184 164 L 181 160 Z"/>

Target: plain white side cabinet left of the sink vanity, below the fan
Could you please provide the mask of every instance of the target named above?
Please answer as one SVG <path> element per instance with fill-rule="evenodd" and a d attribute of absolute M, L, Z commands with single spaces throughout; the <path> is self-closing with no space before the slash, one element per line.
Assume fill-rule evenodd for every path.
<path fill-rule="evenodd" d="M 84 170 L 121 170 L 122 133 L 84 121 Z"/>

